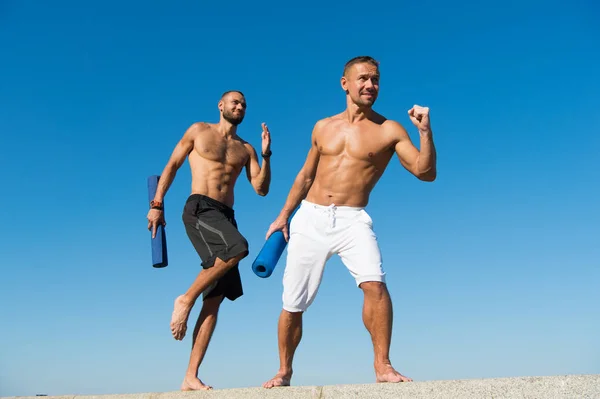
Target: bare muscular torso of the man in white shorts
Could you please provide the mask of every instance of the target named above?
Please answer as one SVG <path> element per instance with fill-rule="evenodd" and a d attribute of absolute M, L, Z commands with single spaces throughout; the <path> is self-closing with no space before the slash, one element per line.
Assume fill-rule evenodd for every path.
<path fill-rule="evenodd" d="M 344 114 L 322 121 L 314 140 L 320 158 L 307 201 L 364 207 L 394 154 L 397 138 L 380 115 L 351 124 Z"/>

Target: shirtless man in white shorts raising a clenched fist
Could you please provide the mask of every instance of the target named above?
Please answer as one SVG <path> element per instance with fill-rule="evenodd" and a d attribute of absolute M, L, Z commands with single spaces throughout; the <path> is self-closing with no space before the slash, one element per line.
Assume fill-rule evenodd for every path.
<path fill-rule="evenodd" d="M 385 284 L 373 221 L 365 210 L 373 187 L 396 154 L 422 181 L 436 178 L 436 151 L 429 109 L 408 111 L 420 136 L 420 150 L 398 122 L 372 107 L 379 92 L 379 63 L 356 57 L 341 78 L 346 110 L 315 124 L 306 162 L 267 238 L 281 230 L 289 240 L 279 317 L 279 371 L 265 388 L 290 385 L 294 352 L 302 337 L 302 314 L 311 305 L 327 260 L 337 254 L 364 293 L 363 321 L 371 335 L 377 382 L 405 382 L 389 357 L 392 303 Z M 291 221 L 294 209 L 298 208 Z"/>

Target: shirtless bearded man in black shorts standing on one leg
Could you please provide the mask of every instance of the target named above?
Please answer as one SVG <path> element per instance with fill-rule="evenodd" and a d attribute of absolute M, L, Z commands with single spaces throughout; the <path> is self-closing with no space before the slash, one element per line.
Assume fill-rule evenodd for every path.
<path fill-rule="evenodd" d="M 175 300 L 171 333 L 182 340 L 194 303 L 203 294 L 202 310 L 196 323 L 192 353 L 184 391 L 210 389 L 198 379 L 198 368 L 208 348 L 223 298 L 234 301 L 243 295 L 238 263 L 248 255 L 248 242 L 238 231 L 233 211 L 233 192 L 238 176 L 246 176 L 258 195 L 269 192 L 271 183 L 271 134 L 262 128 L 262 166 L 254 148 L 237 135 L 237 126 L 246 113 L 246 99 L 239 91 L 223 94 L 219 101 L 219 123 L 194 123 L 175 147 L 158 183 L 148 212 L 152 236 L 165 224 L 163 198 L 177 170 L 186 158 L 192 172 L 192 193 L 183 209 L 183 223 L 202 261 L 202 270 L 183 295 Z"/>

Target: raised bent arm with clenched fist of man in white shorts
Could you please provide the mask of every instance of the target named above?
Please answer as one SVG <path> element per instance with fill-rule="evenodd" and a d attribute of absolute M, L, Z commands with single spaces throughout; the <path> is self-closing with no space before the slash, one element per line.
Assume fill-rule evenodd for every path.
<path fill-rule="evenodd" d="M 396 154 L 400 163 L 419 180 L 434 181 L 437 176 L 437 154 L 429 123 L 429 108 L 415 105 L 408 114 L 419 130 L 420 150 L 413 145 L 406 129 L 399 123 L 395 123 L 394 129 L 398 138 Z"/>

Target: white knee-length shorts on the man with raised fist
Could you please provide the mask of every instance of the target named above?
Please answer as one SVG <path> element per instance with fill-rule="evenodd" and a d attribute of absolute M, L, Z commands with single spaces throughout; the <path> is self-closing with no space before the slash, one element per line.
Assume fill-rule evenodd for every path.
<path fill-rule="evenodd" d="M 356 285 L 385 282 L 373 220 L 364 208 L 323 206 L 306 200 L 290 222 L 283 308 L 304 312 L 315 299 L 325 263 L 337 254 Z"/>

